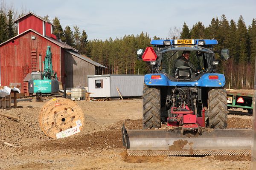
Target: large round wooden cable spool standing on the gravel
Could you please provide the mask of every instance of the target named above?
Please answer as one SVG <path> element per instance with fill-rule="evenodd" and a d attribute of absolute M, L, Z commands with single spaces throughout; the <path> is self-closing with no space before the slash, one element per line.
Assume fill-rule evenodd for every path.
<path fill-rule="evenodd" d="M 70 99 L 55 98 L 44 104 L 38 121 L 43 132 L 56 139 L 56 134 L 64 133 L 65 130 L 71 131 L 72 128 L 78 127 L 81 131 L 84 127 L 84 113 L 76 102 Z"/>

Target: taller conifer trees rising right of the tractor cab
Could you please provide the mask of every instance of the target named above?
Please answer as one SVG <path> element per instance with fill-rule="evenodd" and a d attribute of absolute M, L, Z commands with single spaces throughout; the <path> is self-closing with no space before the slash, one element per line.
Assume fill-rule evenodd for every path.
<path fill-rule="evenodd" d="M 205 27 L 201 22 L 196 23 L 189 30 L 184 23 L 180 39 L 216 39 L 218 45 L 215 51 L 223 48 L 230 50 L 230 59 L 221 61 L 217 67 L 219 73 L 224 73 L 227 88 L 253 88 L 254 68 L 256 57 L 256 20 L 253 19 L 251 25 L 244 23 L 240 16 L 237 23 L 232 19 L 228 21 L 225 15 L 212 18 L 211 24 Z M 219 59 L 219 55 L 215 54 Z"/>

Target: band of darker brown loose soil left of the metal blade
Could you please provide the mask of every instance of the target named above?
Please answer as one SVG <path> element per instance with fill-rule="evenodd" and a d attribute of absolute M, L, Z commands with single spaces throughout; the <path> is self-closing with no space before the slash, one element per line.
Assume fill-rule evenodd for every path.
<path fill-rule="evenodd" d="M 94 133 L 78 133 L 65 139 L 49 139 L 35 144 L 35 147 L 21 147 L 20 150 L 66 150 L 68 148 L 72 150 L 108 150 L 124 148 L 122 146 L 122 123 L 122 121 L 116 122 L 116 124 L 111 125 L 106 130 Z M 128 128 L 142 127 L 141 119 L 126 119 L 124 123 L 125 127 Z"/>

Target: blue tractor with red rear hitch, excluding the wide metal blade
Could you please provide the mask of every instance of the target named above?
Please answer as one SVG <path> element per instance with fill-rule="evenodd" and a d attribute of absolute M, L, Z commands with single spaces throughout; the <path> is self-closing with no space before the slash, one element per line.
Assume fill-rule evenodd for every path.
<path fill-rule="evenodd" d="M 180 126 L 182 132 L 200 127 L 227 128 L 227 93 L 224 74 L 216 73 L 213 46 L 217 40 L 151 40 L 137 58 L 150 62 L 143 87 L 143 129 L 161 124 Z M 189 60 L 179 59 L 190 54 Z M 229 58 L 228 49 L 218 53 Z"/>

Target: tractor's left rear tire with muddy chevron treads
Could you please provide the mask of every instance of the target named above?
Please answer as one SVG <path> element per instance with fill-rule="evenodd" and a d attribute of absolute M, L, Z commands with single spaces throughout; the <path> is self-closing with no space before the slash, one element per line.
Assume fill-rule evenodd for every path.
<path fill-rule="evenodd" d="M 143 86 L 143 129 L 161 127 L 161 93 L 156 86 Z"/>

